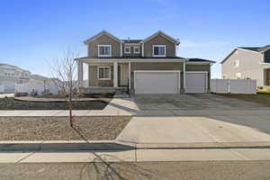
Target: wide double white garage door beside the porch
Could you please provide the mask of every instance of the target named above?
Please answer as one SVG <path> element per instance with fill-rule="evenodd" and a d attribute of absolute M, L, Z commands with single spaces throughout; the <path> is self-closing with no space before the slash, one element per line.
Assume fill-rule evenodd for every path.
<path fill-rule="evenodd" d="M 135 94 L 178 94 L 180 71 L 135 71 Z"/>

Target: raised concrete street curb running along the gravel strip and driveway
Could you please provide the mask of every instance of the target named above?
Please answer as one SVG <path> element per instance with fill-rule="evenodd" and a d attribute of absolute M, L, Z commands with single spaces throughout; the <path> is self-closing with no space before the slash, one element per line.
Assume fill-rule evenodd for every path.
<path fill-rule="evenodd" d="M 118 140 L 0 141 L 1 151 L 270 148 L 270 142 L 133 143 Z"/>

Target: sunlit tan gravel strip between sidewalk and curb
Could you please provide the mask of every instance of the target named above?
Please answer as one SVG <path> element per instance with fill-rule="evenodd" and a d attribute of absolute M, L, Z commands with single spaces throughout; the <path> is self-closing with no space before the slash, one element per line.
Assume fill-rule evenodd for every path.
<path fill-rule="evenodd" d="M 0 140 L 110 140 L 130 117 L 0 117 Z"/>

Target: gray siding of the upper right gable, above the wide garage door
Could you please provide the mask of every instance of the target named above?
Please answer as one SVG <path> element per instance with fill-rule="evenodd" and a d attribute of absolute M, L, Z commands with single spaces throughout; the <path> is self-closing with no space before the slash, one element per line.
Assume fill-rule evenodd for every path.
<path fill-rule="evenodd" d="M 155 38 L 144 43 L 145 57 L 153 57 L 153 45 L 166 45 L 166 57 L 175 57 L 175 43 L 167 40 L 162 35 L 157 35 Z"/>

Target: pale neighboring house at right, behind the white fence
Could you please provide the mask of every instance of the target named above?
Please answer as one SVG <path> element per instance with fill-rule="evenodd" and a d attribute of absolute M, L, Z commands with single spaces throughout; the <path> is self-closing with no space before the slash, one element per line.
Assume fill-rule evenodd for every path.
<path fill-rule="evenodd" d="M 221 61 L 222 78 L 256 79 L 257 86 L 270 85 L 270 45 L 238 47 Z"/>

